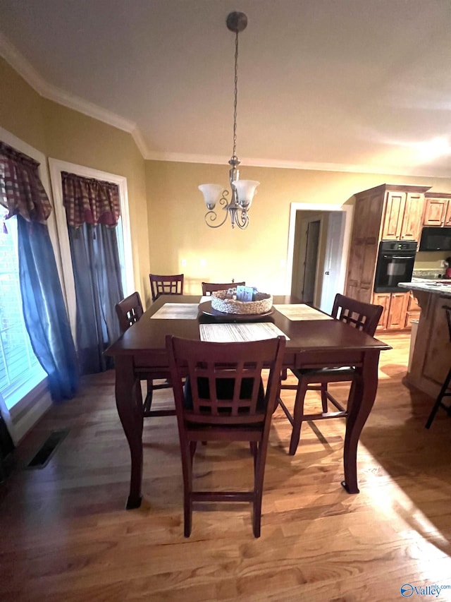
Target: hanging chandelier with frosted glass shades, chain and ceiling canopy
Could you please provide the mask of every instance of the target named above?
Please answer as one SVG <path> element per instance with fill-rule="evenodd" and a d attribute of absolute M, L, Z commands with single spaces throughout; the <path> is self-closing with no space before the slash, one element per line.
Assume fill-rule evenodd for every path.
<path fill-rule="evenodd" d="M 218 228 L 226 223 L 227 216 L 230 215 L 232 227 L 235 225 L 240 229 L 247 228 L 249 216 L 247 212 L 254 198 L 255 189 L 260 182 L 255 180 L 240 180 L 240 171 L 237 167 L 240 164 L 236 154 L 237 149 L 237 88 L 238 88 L 238 33 L 245 30 L 247 26 L 247 16 L 245 13 L 230 13 L 226 20 L 230 31 L 235 32 L 235 95 L 233 100 L 233 152 L 229 164 L 231 166 L 229 174 L 230 189 L 232 194 L 230 200 L 228 195 L 230 191 L 223 190 L 221 184 L 201 184 L 199 190 L 204 195 L 204 202 L 207 208 L 205 214 L 205 223 L 210 228 Z M 221 205 L 224 215 L 223 219 L 216 223 L 218 215 L 216 214 L 216 203 Z"/>

